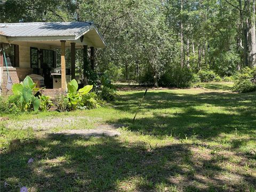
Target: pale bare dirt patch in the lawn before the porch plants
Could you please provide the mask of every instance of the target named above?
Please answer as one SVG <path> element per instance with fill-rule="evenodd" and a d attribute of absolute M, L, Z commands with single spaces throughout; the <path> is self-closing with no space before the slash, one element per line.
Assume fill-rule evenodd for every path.
<path fill-rule="evenodd" d="M 49 117 L 38 118 L 24 121 L 11 121 L 7 127 L 15 127 L 16 129 L 26 129 L 31 127 L 35 131 L 45 133 L 56 127 L 65 127 L 64 130 L 54 132 L 52 134 L 80 135 L 82 137 L 114 137 L 121 133 L 116 131 L 121 124 L 102 124 L 99 117 Z M 90 125 L 90 126 L 89 126 Z"/>

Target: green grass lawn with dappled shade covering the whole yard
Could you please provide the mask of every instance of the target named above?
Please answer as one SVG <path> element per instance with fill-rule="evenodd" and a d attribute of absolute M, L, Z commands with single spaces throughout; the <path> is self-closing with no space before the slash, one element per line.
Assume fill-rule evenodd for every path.
<path fill-rule="evenodd" d="M 99 109 L 10 116 L 96 120 L 46 131 L 2 123 L 0 191 L 256 191 L 256 93 L 234 93 L 231 86 L 150 89 L 134 124 L 145 91 L 134 85 L 118 85 L 116 101 Z M 122 134 L 53 134 L 98 123 L 122 125 Z M 33 142 L 7 150 L 14 138 Z"/>

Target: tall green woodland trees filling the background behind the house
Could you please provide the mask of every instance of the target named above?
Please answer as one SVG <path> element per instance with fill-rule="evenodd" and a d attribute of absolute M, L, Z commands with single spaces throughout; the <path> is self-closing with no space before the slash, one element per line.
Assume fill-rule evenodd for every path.
<path fill-rule="evenodd" d="M 96 50 L 97 70 L 117 80 L 256 65 L 255 0 L 1 0 L 0 12 L 1 22 L 93 21 L 108 43 Z"/>

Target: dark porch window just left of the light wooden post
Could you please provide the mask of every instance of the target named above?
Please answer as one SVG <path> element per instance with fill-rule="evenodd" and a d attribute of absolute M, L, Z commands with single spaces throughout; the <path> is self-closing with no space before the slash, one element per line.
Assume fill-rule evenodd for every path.
<path fill-rule="evenodd" d="M 41 50 L 41 68 L 54 68 L 55 67 L 55 51 Z"/>

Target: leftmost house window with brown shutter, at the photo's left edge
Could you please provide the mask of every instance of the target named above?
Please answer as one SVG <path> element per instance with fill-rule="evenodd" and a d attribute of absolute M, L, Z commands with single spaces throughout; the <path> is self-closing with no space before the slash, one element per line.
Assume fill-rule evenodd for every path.
<path fill-rule="evenodd" d="M 5 53 L 7 65 L 13 67 L 19 67 L 19 45 L 8 44 L 8 43 L 1 43 L 1 55 L 3 51 Z M 5 61 L 4 61 L 5 66 Z"/>

